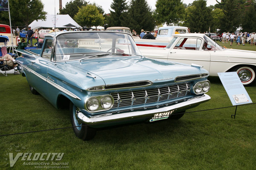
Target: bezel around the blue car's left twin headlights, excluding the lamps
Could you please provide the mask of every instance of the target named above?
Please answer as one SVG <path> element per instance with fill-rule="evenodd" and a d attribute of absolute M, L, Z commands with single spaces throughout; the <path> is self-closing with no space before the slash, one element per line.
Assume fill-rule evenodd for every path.
<path fill-rule="evenodd" d="M 103 99 L 104 97 L 110 97 L 110 98 L 111 98 L 112 104 L 111 104 L 111 106 L 110 106 L 109 108 L 104 108 L 104 107 L 102 106 L 102 99 Z M 87 104 L 88 104 L 88 102 L 89 102 L 91 99 L 97 99 L 98 102 L 99 102 L 99 107 L 98 107 L 96 110 L 94 110 L 94 111 L 91 111 L 91 110 L 87 107 Z M 114 105 L 114 98 L 113 98 L 111 95 L 109 95 L 109 94 L 108 94 L 108 95 L 101 95 L 101 96 L 91 96 L 90 98 L 88 98 L 88 99 L 84 102 L 84 108 L 85 108 L 85 110 L 88 111 L 88 112 L 90 112 L 90 113 L 96 113 L 96 112 L 101 112 L 101 111 L 108 111 L 108 110 L 110 110 L 110 109 L 113 107 L 113 105 Z"/>

